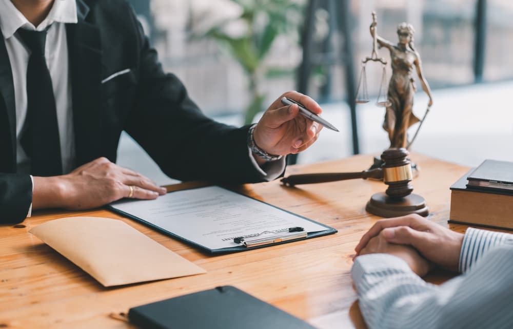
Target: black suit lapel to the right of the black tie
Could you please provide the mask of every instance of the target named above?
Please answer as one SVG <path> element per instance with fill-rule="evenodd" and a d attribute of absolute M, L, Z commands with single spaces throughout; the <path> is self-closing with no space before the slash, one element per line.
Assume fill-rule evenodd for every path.
<path fill-rule="evenodd" d="M 77 0 L 77 24 L 67 24 L 69 63 L 73 95 L 76 165 L 102 156 L 100 29 L 87 23 L 89 8 Z"/>

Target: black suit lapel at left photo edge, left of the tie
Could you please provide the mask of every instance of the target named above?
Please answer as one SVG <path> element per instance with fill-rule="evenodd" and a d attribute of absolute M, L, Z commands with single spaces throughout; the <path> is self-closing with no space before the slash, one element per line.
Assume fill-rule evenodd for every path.
<path fill-rule="evenodd" d="M 0 172 L 13 172 L 16 168 L 16 108 L 11 62 L 0 31 Z"/>

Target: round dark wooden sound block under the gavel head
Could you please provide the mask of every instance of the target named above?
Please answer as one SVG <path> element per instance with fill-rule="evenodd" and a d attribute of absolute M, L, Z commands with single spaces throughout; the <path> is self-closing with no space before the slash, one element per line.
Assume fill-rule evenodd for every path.
<path fill-rule="evenodd" d="M 419 214 L 424 217 L 429 215 L 426 200 L 416 194 L 410 194 L 403 198 L 391 198 L 384 192 L 376 193 L 367 202 L 365 210 L 373 215 L 386 218 L 409 214 Z"/>

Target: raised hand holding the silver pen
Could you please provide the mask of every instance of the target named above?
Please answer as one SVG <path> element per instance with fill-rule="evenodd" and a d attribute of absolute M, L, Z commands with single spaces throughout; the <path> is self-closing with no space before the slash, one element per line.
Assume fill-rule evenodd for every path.
<path fill-rule="evenodd" d="M 292 105 L 282 103 L 282 99 L 293 100 Z M 306 112 L 300 110 L 308 109 Z M 269 154 L 285 156 L 299 153 L 312 145 L 319 137 L 323 125 L 314 118 L 322 112 L 317 102 L 297 91 L 289 91 L 275 100 L 265 111 L 262 119 L 253 131 L 253 139 L 258 147 Z M 310 117 L 310 114 L 315 115 Z"/>

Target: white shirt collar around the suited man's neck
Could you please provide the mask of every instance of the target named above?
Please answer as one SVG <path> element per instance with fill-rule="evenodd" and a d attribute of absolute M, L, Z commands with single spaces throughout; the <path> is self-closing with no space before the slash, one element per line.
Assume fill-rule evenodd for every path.
<path fill-rule="evenodd" d="M 0 29 L 2 29 L 2 33 L 6 39 L 13 36 L 21 27 L 29 30 L 42 31 L 53 22 L 77 23 L 78 18 L 75 0 L 55 0 L 48 16 L 37 28 L 14 7 L 11 0 L 0 0 Z"/>

